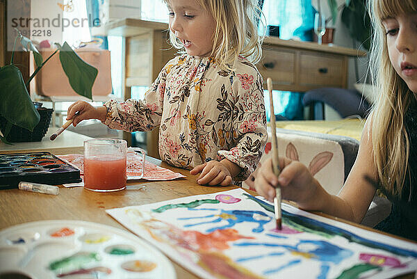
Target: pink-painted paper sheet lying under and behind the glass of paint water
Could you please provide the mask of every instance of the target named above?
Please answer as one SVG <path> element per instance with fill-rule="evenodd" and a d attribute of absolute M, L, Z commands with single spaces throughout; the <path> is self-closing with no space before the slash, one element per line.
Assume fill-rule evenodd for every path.
<path fill-rule="evenodd" d="M 83 154 L 67 154 L 67 155 L 58 155 L 60 159 L 67 161 L 72 166 L 79 168 L 81 178 L 84 173 L 84 157 Z M 136 152 L 129 150 L 127 152 L 127 165 L 126 165 L 127 180 L 136 180 L 140 173 L 142 173 L 142 160 Z M 156 166 L 149 161 L 145 161 L 145 173 L 142 177 L 143 180 L 158 181 L 158 180 L 174 180 L 180 177 L 185 177 L 181 173 L 175 173 L 172 170 L 163 168 L 161 166 Z M 76 184 L 76 183 L 72 183 Z M 83 182 L 79 183 L 82 185 L 74 186 L 83 186 Z M 67 184 L 69 185 L 69 184 Z M 66 185 L 64 185 L 66 186 Z"/>

